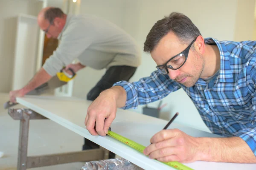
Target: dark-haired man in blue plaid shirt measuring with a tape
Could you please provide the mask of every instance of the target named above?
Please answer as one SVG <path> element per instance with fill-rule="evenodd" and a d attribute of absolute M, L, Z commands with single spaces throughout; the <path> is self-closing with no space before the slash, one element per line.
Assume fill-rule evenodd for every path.
<path fill-rule="evenodd" d="M 159 161 L 256 163 L 255 47 L 255 41 L 204 39 L 188 17 L 172 13 L 157 21 L 145 40 L 157 71 L 103 91 L 87 110 L 87 130 L 105 136 L 116 108 L 136 108 L 183 88 L 207 127 L 224 138 L 162 130 L 144 154 Z"/>

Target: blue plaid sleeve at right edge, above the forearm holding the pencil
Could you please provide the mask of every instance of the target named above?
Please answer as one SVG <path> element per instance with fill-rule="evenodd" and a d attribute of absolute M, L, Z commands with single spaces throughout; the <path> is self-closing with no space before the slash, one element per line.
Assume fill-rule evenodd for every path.
<path fill-rule="evenodd" d="M 248 65 L 247 70 L 250 70 L 247 75 L 247 88 L 251 91 L 251 95 L 253 96 L 252 99 L 252 108 L 250 108 L 250 127 L 246 129 L 242 129 L 236 136 L 241 137 L 253 151 L 254 155 L 256 156 L 256 62 L 253 62 L 252 65 Z"/>

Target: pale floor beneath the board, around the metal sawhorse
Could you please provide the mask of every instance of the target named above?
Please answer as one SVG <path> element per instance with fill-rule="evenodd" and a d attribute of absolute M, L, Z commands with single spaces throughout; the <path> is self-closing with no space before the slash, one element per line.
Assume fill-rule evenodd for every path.
<path fill-rule="evenodd" d="M 8 94 L 0 94 L 0 152 L 4 152 L 0 158 L 0 170 L 16 170 L 20 122 L 13 120 L 3 109 L 7 100 Z M 80 151 L 83 142 L 82 136 L 49 119 L 30 121 L 28 156 Z M 29 170 L 80 170 L 83 164 L 76 162 Z"/>

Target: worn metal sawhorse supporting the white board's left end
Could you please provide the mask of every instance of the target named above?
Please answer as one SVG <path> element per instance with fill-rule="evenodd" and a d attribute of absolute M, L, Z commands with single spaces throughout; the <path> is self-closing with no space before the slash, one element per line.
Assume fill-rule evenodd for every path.
<path fill-rule="evenodd" d="M 108 159 L 109 151 L 103 147 L 99 149 L 84 150 L 78 152 L 58 153 L 41 156 L 27 156 L 29 120 L 47 119 L 30 109 L 9 108 L 8 114 L 15 120 L 20 120 L 19 149 L 17 170 L 26 170 L 28 168 L 43 167 L 56 164 L 65 164 L 78 161 L 95 161 Z"/>

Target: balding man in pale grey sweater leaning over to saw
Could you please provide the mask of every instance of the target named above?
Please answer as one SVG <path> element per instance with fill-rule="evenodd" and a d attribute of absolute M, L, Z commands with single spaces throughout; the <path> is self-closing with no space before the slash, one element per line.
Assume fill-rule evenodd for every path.
<path fill-rule="evenodd" d="M 48 82 L 64 66 L 68 74 L 72 74 L 68 68 L 74 72 L 86 66 L 106 69 L 105 75 L 87 94 L 88 100 L 94 100 L 115 82 L 128 81 L 140 65 L 141 52 L 135 40 L 102 18 L 64 14 L 60 8 L 47 7 L 38 14 L 38 25 L 48 38 L 61 40 L 60 45 L 26 86 L 10 92 L 11 102 Z M 79 59 L 79 63 L 70 64 L 74 59 Z M 90 140 L 84 140 L 83 150 L 99 147 Z M 114 156 L 110 153 L 110 158 Z"/>

